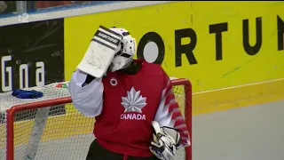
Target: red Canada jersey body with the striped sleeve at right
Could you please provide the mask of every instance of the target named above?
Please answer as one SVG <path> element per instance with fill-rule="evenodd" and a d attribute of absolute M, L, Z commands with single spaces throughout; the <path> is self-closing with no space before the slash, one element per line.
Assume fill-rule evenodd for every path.
<path fill-rule="evenodd" d="M 155 120 L 161 127 L 178 129 L 184 146 L 188 146 L 188 131 L 169 76 L 160 65 L 137 61 L 142 65 L 136 75 L 109 72 L 102 80 L 103 109 L 94 126 L 99 144 L 123 155 L 153 156 L 149 145 Z"/>

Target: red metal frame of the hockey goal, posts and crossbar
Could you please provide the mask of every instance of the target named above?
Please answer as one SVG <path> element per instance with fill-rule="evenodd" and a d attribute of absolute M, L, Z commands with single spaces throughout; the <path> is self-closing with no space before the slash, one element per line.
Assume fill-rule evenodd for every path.
<path fill-rule="evenodd" d="M 172 79 L 171 84 L 172 86 L 183 85 L 185 89 L 185 124 L 189 130 L 191 142 L 191 146 L 185 148 L 185 160 L 192 160 L 192 84 L 185 78 Z M 14 116 L 17 112 L 28 109 L 47 108 L 67 103 L 72 103 L 71 97 L 36 101 L 9 108 L 6 111 L 6 160 L 14 160 Z"/>

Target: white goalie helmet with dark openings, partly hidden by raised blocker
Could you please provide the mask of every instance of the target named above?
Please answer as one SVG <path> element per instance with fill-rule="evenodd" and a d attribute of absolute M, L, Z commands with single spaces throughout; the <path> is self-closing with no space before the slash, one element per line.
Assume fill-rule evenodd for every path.
<path fill-rule="evenodd" d="M 122 35 L 121 47 L 115 53 L 112 60 L 110 70 L 114 72 L 116 70 L 126 68 L 133 60 L 133 56 L 137 50 L 137 44 L 134 37 L 130 36 L 130 32 L 125 28 L 110 28 L 114 32 Z"/>

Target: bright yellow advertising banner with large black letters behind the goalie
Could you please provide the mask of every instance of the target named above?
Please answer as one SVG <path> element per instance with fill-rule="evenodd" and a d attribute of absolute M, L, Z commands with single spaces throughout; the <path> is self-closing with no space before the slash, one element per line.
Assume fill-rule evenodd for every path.
<path fill-rule="evenodd" d="M 193 92 L 284 77 L 283 2 L 173 2 L 65 19 L 66 80 L 99 25 L 126 28 L 138 58 L 188 78 Z"/>

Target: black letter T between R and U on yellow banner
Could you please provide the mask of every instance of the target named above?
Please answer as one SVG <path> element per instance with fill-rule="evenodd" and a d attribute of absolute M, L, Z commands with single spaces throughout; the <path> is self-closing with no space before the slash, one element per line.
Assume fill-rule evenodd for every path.
<path fill-rule="evenodd" d="M 219 23 L 209 25 L 209 33 L 215 33 L 215 41 L 216 41 L 216 60 L 222 60 L 222 32 L 228 31 L 228 23 Z"/>

